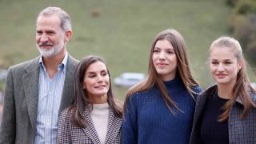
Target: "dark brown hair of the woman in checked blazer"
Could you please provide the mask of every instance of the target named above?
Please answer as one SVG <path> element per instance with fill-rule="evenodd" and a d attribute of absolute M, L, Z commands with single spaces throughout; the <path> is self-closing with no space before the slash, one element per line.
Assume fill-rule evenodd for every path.
<path fill-rule="evenodd" d="M 106 65 L 103 58 L 98 56 L 90 55 L 86 58 L 82 58 L 82 61 L 78 63 L 77 69 L 75 70 L 74 77 L 74 104 L 69 107 L 71 120 L 74 122 L 75 126 L 85 127 L 85 120 L 83 118 L 83 113 L 86 109 L 89 109 L 88 104 L 90 103 L 88 94 L 86 90 L 82 88 L 83 80 L 86 74 L 87 68 L 94 62 L 102 62 Z M 106 66 L 107 73 L 110 76 L 110 72 Z M 107 92 L 107 102 L 110 105 L 110 109 L 113 110 L 114 115 L 118 118 L 122 118 L 122 106 L 118 103 L 117 99 L 114 98 L 114 94 L 111 88 Z"/>

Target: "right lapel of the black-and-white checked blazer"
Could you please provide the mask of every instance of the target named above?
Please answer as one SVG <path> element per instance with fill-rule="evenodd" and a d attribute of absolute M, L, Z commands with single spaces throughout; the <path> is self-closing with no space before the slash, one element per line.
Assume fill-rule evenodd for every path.
<path fill-rule="evenodd" d="M 114 112 L 110 109 L 109 123 L 106 132 L 106 143 L 114 143 L 119 131 L 121 130 L 122 119 L 116 118 Z"/>

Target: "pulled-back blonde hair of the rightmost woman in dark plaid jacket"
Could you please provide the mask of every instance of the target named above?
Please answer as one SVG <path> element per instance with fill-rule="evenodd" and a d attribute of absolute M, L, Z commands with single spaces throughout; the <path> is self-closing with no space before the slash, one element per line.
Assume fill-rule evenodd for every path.
<path fill-rule="evenodd" d="M 242 68 L 238 70 L 237 75 L 237 81 L 234 84 L 233 90 L 232 90 L 232 98 L 227 101 L 224 106 L 222 107 L 224 112 L 219 116 L 218 121 L 224 122 L 229 118 L 230 115 L 230 108 L 236 101 L 236 99 L 240 96 L 243 103 L 243 111 L 241 114 L 241 118 L 246 118 L 247 114 L 249 113 L 249 110 L 252 106 L 256 106 L 254 102 L 252 102 L 250 98 L 250 94 L 248 94 L 248 88 L 249 90 L 256 93 L 256 90 L 253 86 L 250 84 L 250 80 L 247 77 L 246 74 L 246 63 L 245 58 L 242 55 L 242 47 L 240 46 L 240 43 L 230 37 L 221 37 L 216 39 L 210 46 L 209 53 L 214 50 L 214 48 L 222 48 L 222 49 L 231 49 L 233 50 L 233 54 L 237 58 L 238 62 L 242 61 Z"/>

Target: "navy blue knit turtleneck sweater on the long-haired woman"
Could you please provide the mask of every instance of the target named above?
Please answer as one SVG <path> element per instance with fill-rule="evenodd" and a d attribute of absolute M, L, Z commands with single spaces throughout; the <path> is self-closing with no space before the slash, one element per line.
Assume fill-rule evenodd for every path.
<path fill-rule="evenodd" d="M 170 113 L 158 86 L 130 96 L 122 124 L 123 144 L 187 144 L 193 124 L 195 100 L 180 78 L 165 82 L 166 88 L 182 112 Z M 195 92 L 201 92 L 197 86 Z"/>

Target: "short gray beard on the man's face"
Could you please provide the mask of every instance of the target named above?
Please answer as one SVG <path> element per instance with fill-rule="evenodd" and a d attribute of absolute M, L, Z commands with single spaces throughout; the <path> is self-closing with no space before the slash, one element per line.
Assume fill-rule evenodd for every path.
<path fill-rule="evenodd" d="M 57 55 L 62 50 L 62 48 L 64 47 L 64 44 L 65 43 L 62 41 L 57 46 L 53 46 L 52 48 L 50 48 L 50 50 L 41 49 L 38 45 L 37 45 L 37 48 L 40 54 L 42 54 L 44 58 L 51 58 Z"/>

